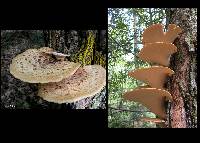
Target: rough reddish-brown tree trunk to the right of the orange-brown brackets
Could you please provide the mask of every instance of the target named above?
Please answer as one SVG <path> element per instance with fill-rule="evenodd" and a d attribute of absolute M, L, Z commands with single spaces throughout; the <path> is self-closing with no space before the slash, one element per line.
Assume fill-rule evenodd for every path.
<path fill-rule="evenodd" d="M 177 53 L 171 57 L 175 74 L 167 87 L 173 102 L 169 110 L 169 127 L 197 127 L 197 9 L 167 9 L 167 23 L 176 24 L 183 32 L 175 40 Z"/>

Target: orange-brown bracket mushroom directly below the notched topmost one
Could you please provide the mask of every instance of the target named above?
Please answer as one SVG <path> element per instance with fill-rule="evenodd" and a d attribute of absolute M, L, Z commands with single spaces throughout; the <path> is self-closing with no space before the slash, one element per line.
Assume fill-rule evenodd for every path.
<path fill-rule="evenodd" d="M 139 58 L 146 62 L 153 62 L 169 66 L 170 55 L 177 52 L 177 47 L 169 43 L 145 44 L 139 53 Z"/>

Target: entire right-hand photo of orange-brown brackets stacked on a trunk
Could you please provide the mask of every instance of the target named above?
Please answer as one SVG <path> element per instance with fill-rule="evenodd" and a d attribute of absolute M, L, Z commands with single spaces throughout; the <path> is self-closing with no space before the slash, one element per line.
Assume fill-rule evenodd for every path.
<path fill-rule="evenodd" d="M 109 128 L 197 127 L 191 33 L 197 8 L 108 8 Z"/>

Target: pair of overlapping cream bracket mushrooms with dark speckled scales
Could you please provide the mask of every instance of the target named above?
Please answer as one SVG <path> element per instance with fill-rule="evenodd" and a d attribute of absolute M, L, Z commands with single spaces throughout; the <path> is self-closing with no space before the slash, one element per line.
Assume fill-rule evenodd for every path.
<path fill-rule="evenodd" d="M 100 65 L 81 67 L 52 48 L 28 49 L 12 59 L 10 73 L 24 82 L 40 83 L 38 96 L 54 103 L 71 103 L 94 96 L 106 84 Z"/>

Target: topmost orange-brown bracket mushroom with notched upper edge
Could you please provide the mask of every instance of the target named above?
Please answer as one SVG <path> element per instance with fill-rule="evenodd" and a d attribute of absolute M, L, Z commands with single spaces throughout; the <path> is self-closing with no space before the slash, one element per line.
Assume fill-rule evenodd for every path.
<path fill-rule="evenodd" d="M 174 40 L 178 37 L 178 34 L 180 34 L 181 32 L 181 28 L 176 26 L 175 24 L 169 24 L 167 32 L 163 32 L 162 24 L 153 24 L 144 30 L 142 35 L 142 43 L 173 43 Z"/>

